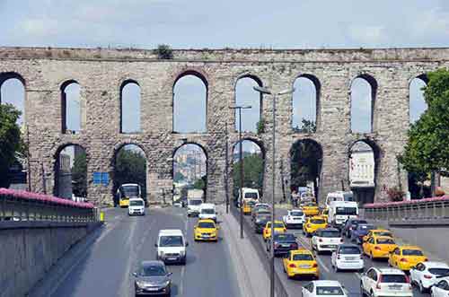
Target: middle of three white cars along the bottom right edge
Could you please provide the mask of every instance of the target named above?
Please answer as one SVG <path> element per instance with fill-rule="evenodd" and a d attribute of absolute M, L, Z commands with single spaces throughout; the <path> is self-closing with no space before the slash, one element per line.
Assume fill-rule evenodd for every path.
<path fill-rule="evenodd" d="M 369 268 L 360 278 L 360 291 L 370 297 L 413 297 L 409 277 L 396 268 Z"/>

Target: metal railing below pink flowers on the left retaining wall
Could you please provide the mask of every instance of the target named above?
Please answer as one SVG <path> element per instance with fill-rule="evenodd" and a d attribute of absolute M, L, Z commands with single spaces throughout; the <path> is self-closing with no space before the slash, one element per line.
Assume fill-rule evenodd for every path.
<path fill-rule="evenodd" d="M 12 195 L 0 195 L 0 221 L 90 223 L 100 221 L 100 211 L 96 207 L 76 207 Z"/>

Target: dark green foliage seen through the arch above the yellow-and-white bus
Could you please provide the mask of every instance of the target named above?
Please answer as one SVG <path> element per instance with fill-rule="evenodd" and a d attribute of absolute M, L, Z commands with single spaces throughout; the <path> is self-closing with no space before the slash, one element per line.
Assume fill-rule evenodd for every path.
<path fill-rule="evenodd" d="M 124 183 L 136 183 L 142 188 L 142 196 L 146 196 L 146 161 L 136 151 L 121 149 L 117 153 L 114 171 L 114 188 Z"/>

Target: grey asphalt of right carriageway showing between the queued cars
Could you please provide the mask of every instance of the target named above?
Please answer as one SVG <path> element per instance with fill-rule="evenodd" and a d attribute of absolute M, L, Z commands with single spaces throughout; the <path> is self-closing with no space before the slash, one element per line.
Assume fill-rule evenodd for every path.
<path fill-rule="evenodd" d="M 278 220 L 282 220 L 282 215 L 286 214 L 286 210 L 279 209 L 277 210 L 276 217 Z M 251 216 L 245 216 L 245 219 L 248 220 L 248 222 L 251 222 Z M 303 235 L 302 230 L 288 230 L 288 232 L 294 233 L 298 242 L 304 246 L 306 249 L 311 249 L 310 245 L 310 238 L 306 238 Z M 266 247 L 266 243 L 263 241 L 262 236 L 259 237 L 260 244 L 263 245 L 263 247 Z M 345 242 L 349 242 L 348 239 L 345 239 Z M 353 272 L 353 271 L 340 271 L 338 273 L 335 273 L 333 270 L 331 264 L 330 264 L 330 253 L 327 254 L 320 254 L 315 255 L 318 266 L 320 267 L 320 279 L 321 280 L 337 280 L 340 284 L 345 286 L 348 295 L 351 297 L 360 297 L 360 273 Z M 365 271 L 372 267 L 388 267 L 386 260 L 375 260 L 372 261 L 370 258 L 365 257 Z M 275 269 L 277 271 L 277 275 L 279 275 L 282 283 L 284 284 L 284 287 L 286 288 L 286 291 L 289 296 L 295 296 L 298 295 L 298 293 L 301 293 L 301 288 L 304 284 L 308 284 L 312 279 L 301 279 L 301 280 L 291 280 L 288 279 L 286 276 L 286 273 L 284 272 L 284 268 L 282 265 L 282 258 L 276 258 L 275 259 Z M 422 294 L 419 293 L 416 288 L 413 289 L 413 295 L 415 297 L 429 297 L 430 294 Z"/>

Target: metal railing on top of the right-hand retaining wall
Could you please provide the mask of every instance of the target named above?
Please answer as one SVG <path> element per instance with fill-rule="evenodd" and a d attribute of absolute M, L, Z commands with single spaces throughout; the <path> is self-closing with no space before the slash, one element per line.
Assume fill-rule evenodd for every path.
<path fill-rule="evenodd" d="M 389 222 L 447 219 L 449 218 L 449 196 L 365 205 L 364 217 L 369 220 Z"/>

